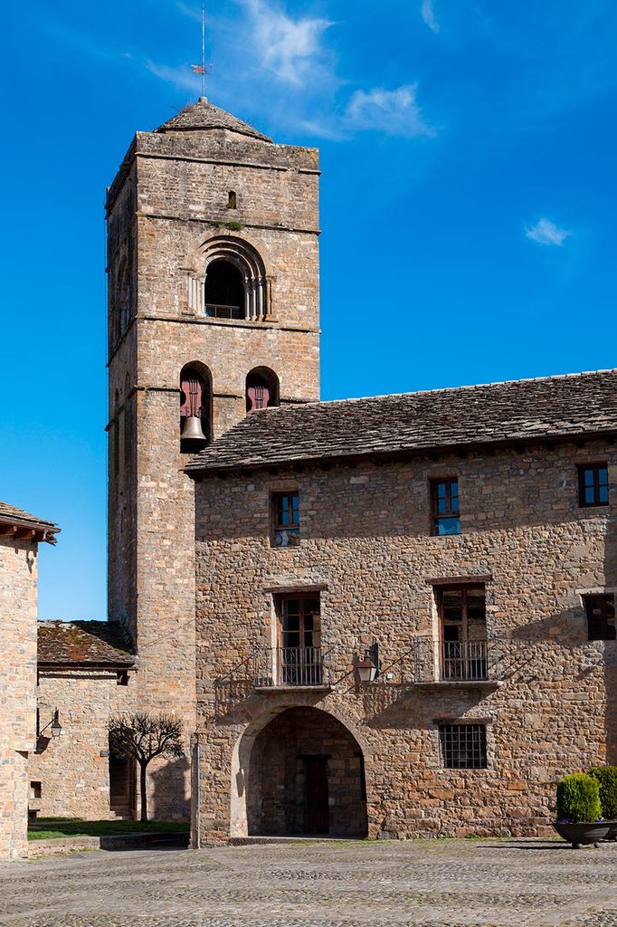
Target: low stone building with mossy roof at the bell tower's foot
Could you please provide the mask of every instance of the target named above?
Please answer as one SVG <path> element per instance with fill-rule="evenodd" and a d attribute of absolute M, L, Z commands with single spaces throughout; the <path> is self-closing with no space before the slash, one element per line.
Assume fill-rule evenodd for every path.
<path fill-rule="evenodd" d="M 109 718 L 134 708 L 130 647 L 117 622 L 39 622 L 39 736 L 29 775 L 31 810 L 43 817 L 134 817 L 134 763 L 113 756 L 108 743 Z M 45 730 L 53 717 L 58 737 Z"/>

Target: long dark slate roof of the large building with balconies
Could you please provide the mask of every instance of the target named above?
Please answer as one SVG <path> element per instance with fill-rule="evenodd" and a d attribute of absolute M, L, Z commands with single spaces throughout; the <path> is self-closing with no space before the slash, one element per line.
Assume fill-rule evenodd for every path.
<path fill-rule="evenodd" d="M 186 472 L 605 432 L 617 432 L 617 370 L 268 409 Z"/>

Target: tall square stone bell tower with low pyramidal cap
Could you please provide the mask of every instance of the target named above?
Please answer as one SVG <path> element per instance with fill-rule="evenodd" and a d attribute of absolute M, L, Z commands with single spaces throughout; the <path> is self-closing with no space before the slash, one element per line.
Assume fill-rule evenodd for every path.
<path fill-rule="evenodd" d="M 189 454 L 247 413 L 319 399 L 318 152 L 202 97 L 137 133 L 107 192 L 109 616 L 137 705 L 195 729 Z M 216 590 L 212 590 L 216 595 Z M 197 642 L 198 645 L 198 642 Z M 152 764 L 152 813 L 188 815 L 188 759 Z"/>

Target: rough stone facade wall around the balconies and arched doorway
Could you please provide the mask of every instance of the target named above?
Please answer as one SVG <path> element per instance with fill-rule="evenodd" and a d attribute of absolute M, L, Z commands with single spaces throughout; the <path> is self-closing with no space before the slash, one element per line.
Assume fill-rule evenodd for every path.
<path fill-rule="evenodd" d="M 612 504 L 579 508 L 576 464 L 598 460 Z M 430 533 L 438 476 L 459 478 L 459 536 Z M 294 486 L 301 540 L 273 549 L 271 492 Z M 546 832 L 561 776 L 617 762 L 617 641 L 587 640 L 582 599 L 617 587 L 614 447 L 207 477 L 195 494 L 202 841 L 246 832 L 253 744 L 294 705 L 328 712 L 359 743 L 371 836 Z M 485 578 L 501 680 L 427 684 L 433 581 L 470 576 Z M 276 590 L 302 589 L 321 596 L 332 688 L 256 689 Z M 362 687 L 352 668 L 373 639 L 383 673 Z M 444 768 L 438 726 L 460 720 L 486 725 L 488 768 Z"/>

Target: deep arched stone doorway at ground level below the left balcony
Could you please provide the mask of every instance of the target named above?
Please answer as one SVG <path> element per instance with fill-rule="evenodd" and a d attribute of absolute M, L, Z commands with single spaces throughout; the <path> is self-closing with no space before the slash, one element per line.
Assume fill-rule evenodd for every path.
<path fill-rule="evenodd" d="M 287 708 L 258 733 L 247 785 L 251 835 L 367 835 L 359 743 L 319 708 Z"/>

